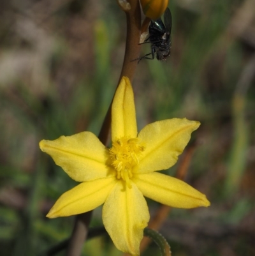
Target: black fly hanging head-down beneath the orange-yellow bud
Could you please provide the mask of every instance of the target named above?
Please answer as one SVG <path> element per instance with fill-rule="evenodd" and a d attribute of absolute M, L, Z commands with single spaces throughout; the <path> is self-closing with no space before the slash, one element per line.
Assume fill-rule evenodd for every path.
<path fill-rule="evenodd" d="M 154 59 L 156 57 L 159 61 L 166 61 L 170 56 L 171 49 L 171 11 L 166 8 L 164 11 L 164 23 L 161 18 L 151 20 L 149 26 L 149 37 L 143 43 L 151 43 L 151 52 L 145 56 L 138 58 L 138 63 L 142 59 Z M 148 57 L 152 55 L 151 57 Z M 137 59 L 134 59 L 134 61 Z"/>

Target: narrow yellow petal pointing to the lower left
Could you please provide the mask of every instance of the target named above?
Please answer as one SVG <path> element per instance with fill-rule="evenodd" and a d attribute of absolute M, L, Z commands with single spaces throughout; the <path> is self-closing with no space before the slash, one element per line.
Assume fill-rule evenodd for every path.
<path fill-rule="evenodd" d="M 91 211 L 105 202 L 115 184 L 115 177 L 78 184 L 59 197 L 47 217 L 57 218 Z"/>

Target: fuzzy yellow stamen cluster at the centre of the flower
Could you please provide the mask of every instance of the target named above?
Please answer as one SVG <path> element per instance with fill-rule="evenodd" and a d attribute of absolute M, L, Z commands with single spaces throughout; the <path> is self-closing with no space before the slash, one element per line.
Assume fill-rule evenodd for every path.
<path fill-rule="evenodd" d="M 130 178 L 133 176 L 132 169 L 139 163 L 139 156 L 145 147 L 139 143 L 139 139 L 128 139 L 122 137 L 112 142 L 110 158 L 117 172 L 117 179 L 123 179 L 131 188 Z"/>

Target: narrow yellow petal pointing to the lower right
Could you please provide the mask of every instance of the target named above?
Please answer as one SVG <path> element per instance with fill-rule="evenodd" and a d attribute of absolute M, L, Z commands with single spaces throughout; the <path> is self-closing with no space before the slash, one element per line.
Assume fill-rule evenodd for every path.
<path fill-rule="evenodd" d="M 133 181 L 145 197 L 167 206 L 177 208 L 210 206 L 210 202 L 204 194 L 174 177 L 152 172 L 136 174 Z"/>

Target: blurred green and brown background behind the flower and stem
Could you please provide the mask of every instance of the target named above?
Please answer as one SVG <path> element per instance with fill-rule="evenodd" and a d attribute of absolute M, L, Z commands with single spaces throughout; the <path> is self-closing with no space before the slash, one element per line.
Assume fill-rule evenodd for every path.
<path fill-rule="evenodd" d="M 133 82 L 138 127 L 171 117 L 201 122 L 186 181 L 212 205 L 173 209 L 160 232 L 175 256 L 255 255 L 255 1 L 175 0 L 170 10 L 171 56 L 142 60 Z M 0 17 L 0 255 L 40 255 L 71 234 L 73 217 L 45 215 L 76 183 L 38 142 L 99 133 L 126 19 L 103 0 L 1 0 Z M 153 216 L 159 204 L 148 204 Z M 91 227 L 99 225 L 100 208 Z M 83 255 L 122 253 L 100 236 Z M 143 255 L 159 250 L 152 244 Z"/>

